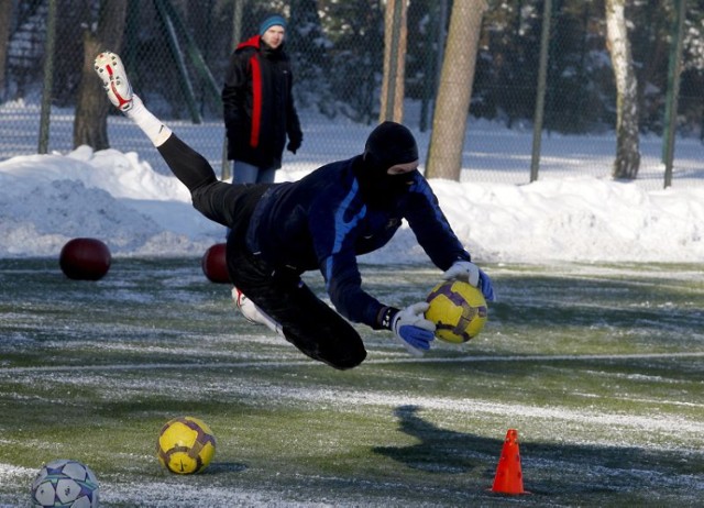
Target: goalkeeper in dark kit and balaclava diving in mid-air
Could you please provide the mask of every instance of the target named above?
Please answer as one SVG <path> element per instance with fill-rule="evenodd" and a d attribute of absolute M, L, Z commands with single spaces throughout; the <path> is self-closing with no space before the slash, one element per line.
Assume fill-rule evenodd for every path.
<path fill-rule="evenodd" d="M 472 263 L 418 172 L 418 147 L 406 126 L 381 123 L 362 154 L 298 181 L 228 184 L 145 108 L 118 55 L 101 53 L 95 68 L 110 101 L 148 136 L 194 207 L 230 229 L 227 266 L 242 313 L 309 357 L 339 369 L 360 365 L 366 350 L 350 321 L 391 330 L 411 354 L 430 349 L 428 303 L 400 309 L 378 301 L 362 288 L 356 262 L 388 243 L 404 219 L 443 278 L 466 280 L 493 300 L 490 277 Z M 300 278 L 316 269 L 334 309 Z"/>

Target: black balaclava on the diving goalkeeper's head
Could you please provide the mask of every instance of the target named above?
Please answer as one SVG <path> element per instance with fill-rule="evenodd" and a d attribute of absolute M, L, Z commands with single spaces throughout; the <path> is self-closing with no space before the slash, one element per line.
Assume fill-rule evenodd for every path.
<path fill-rule="evenodd" d="M 366 139 L 361 164 L 354 168 L 362 196 L 374 207 L 392 205 L 402 196 L 416 172 L 388 175 L 389 167 L 418 161 L 418 146 L 411 132 L 400 123 L 384 122 Z"/>

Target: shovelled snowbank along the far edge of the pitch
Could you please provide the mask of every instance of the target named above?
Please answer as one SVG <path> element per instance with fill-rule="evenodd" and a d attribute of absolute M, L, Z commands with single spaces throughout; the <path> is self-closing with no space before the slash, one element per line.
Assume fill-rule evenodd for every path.
<path fill-rule="evenodd" d="M 286 169 L 279 173 L 287 179 Z M 591 176 L 524 186 L 430 184 L 455 233 L 481 262 L 704 258 L 704 186 L 646 190 Z M 193 209 L 176 178 L 156 173 L 135 153 L 81 146 L 0 163 L 0 257 L 56 256 L 76 236 L 103 240 L 116 256 L 190 256 L 222 242 L 224 229 Z M 427 257 L 404 229 L 363 259 Z"/>

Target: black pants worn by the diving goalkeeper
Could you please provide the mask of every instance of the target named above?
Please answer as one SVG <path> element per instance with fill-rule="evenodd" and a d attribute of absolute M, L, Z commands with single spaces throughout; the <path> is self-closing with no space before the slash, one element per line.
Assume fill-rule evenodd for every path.
<path fill-rule="evenodd" d="M 320 300 L 299 273 L 272 266 L 245 246 L 252 212 L 272 184 L 232 185 L 218 180 L 210 164 L 175 134 L 158 151 L 188 187 L 194 207 L 230 228 L 227 263 L 232 284 L 278 322 L 286 340 L 304 354 L 340 369 L 361 364 L 366 351 L 356 330 Z"/>

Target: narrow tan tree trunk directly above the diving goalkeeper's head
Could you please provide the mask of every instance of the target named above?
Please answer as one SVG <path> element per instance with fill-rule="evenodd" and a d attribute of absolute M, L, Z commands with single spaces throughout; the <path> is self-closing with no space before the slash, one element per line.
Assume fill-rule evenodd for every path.
<path fill-rule="evenodd" d="M 387 0 L 384 16 L 384 78 L 380 121 L 404 121 L 408 0 Z"/>

